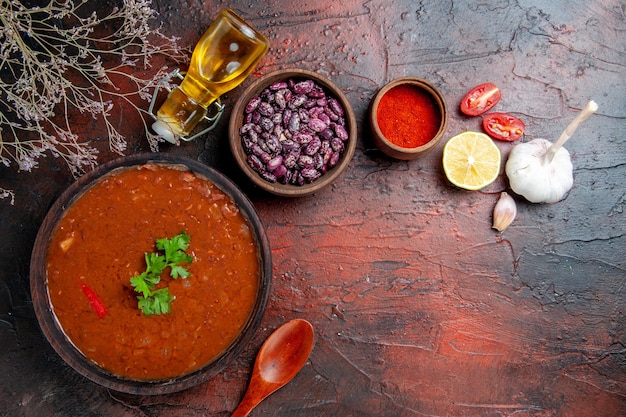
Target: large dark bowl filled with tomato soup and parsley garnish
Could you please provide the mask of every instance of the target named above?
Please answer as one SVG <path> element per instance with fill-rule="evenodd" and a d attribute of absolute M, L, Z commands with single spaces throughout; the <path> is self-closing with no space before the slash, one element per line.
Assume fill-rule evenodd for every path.
<path fill-rule="evenodd" d="M 162 154 L 72 184 L 30 266 L 37 319 L 61 358 L 140 395 L 192 387 L 232 362 L 259 326 L 271 273 L 247 197 L 212 168 Z"/>

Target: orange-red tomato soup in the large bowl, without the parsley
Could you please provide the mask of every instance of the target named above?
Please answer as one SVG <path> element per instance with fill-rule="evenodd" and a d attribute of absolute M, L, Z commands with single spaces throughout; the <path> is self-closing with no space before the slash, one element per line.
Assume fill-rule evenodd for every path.
<path fill-rule="evenodd" d="M 145 315 L 130 278 L 145 270 L 157 239 L 181 231 L 190 236 L 191 276 L 164 272 L 157 288 L 167 286 L 175 297 L 171 312 Z M 52 309 L 76 348 L 112 374 L 188 374 L 224 352 L 250 317 L 259 291 L 257 253 L 251 226 L 211 181 L 166 165 L 113 171 L 71 204 L 52 235 Z"/>

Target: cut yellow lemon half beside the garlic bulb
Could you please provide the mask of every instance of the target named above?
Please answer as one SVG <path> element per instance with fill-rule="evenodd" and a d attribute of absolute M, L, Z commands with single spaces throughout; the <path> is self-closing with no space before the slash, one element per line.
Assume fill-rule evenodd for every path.
<path fill-rule="evenodd" d="M 467 131 L 443 147 L 443 170 L 448 180 L 466 190 L 480 190 L 500 174 L 500 149 L 484 133 Z"/>

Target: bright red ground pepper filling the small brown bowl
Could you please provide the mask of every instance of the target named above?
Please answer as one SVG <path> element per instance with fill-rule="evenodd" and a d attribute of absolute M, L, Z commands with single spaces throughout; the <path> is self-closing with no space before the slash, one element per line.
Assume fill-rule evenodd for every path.
<path fill-rule="evenodd" d="M 387 91 L 380 99 L 376 120 L 382 134 L 394 145 L 415 148 L 435 137 L 441 114 L 427 92 L 402 84 Z"/>

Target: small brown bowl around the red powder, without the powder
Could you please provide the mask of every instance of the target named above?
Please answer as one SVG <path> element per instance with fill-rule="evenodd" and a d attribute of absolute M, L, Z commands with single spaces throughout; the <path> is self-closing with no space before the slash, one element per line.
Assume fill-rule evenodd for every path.
<path fill-rule="evenodd" d="M 392 89 L 399 86 L 410 86 L 417 89 L 418 93 L 421 93 L 423 97 L 430 99 L 434 112 L 436 114 L 436 133 L 423 145 L 416 147 L 404 147 L 393 143 L 389 138 L 385 137 L 381 131 L 381 127 L 378 121 L 378 110 L 381 99 L 388 94 Z M 441 141 L 447 126 L 448 109 L 446 101 L 441 92 L 431 83 L 421 78 L 416 77 L 403 77 L 398 78 L 381 88 L 374 96 L 370 103 L 368 114 L 370 127 L 372 129 L 372 138 L 376 147 L 378 147 L 387 156 L 400 160 L 412 160 L 419 158 L 426 153 L 433 150 L 437 144 Z M 412 129 L 415 131 L 422 128 L 417 120 L 412 120 Z"/>

